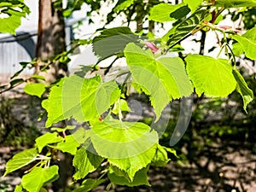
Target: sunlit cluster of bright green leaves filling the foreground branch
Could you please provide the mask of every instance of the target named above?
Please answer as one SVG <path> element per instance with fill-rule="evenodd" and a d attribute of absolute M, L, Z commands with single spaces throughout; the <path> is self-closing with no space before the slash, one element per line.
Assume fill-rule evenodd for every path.
<path fill-rule="evenodd" d="M 119 2 L 119 7 L 115 9 L 127 9 L 132 3 Z M 246 110 L 247 104 L 253 100 L 253 92 L 236 69 L 235 56 L 245 54 L 255 59 L 256 27 L 239 36 L 236 32 L 214 25 L 214 20 L 224 9 L 247 6 L 256 6 L 256 3 L 253 0 L 210 3 L 201 0 L 184 1 L 178 5 L 157 4 L 151 9 L 149 20 L 183 20 L 158 39 L 163 48 L 156 48 L 150 42 L 145 46 L 145 38 L 129 27 L 103 30 L 92 41 L 94 52 L 100 61 L 110 56 L 116 56 L 116 60 L 125 57 L 129 70 L 119 74 L 125 80 L 119 83 L 116 79 L 104 81 L 98 74 L 90 75 L 90 78 L 73 75 L 51 85 L 48 98 L 42 102 L 48 113 L 45 126 L 50 128 L 62 120 L 74 119 L 83 123 L 85 128 L 50 128 L 51 132 L 37 138 L 35 148 L 16 154 L 9 160 L 4 175 L 32 165 L 15 191 L 45 191 L 44 185 L 58 178 L 58 166 L 51 164 L 57 159 L 57 151 L 73 155 L 75 181 L 104 166 L 102 177 L 108 173 L 111 183 L 149 185 L 148 167 L 165 166 L 169 161 L 168 153 L 175 154 L 175 151 L 161 146 L 158 132 L 150 126 L 123 120 L 121 101 L 126 99 L 124 86 L 128 79 L 135 90 L 144 92 L 150 98 L 155 121 L 160 119 L 169 102 L 190 96 L 194 90 L 198 96 L 210 97 L 228 96 L 236 90 Z M 176 44 L 200 30 L 222 32 L 224 37 L 229 36 L 237 43 L 231 49 L 227 38 L 224 38 L 220 51 L 226 51 L 226 59 L 191 54 L 182 60 L 166 55 Z M 44 84 L 26 84 L 25 91 L 40 97 L 46 88 Z M 114 119 L 113 113 L 118 114 L 119 119 Z M 73 134 L 67 135 L 68 132 Z M 35 180 L 35 177 L 38 179 Z M 73 191 L 90 191 L 104 181 L 102 177 L 84 179 L 81 186 Z"/>

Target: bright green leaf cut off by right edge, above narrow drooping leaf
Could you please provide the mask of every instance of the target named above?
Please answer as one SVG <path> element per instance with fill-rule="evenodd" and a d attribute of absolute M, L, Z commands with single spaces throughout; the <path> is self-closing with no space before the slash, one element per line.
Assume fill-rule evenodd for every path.
<path fill-rule="evenodd" d="M 251 38 L 245 38 L 243 36 L 238 36 L 238 35 L 235 35 L 232 38 L 235 39 L 241 45 L 241 49 L 243 49 L 243 51 L 245 52 L 245 55 L 247 55 L 249 59 L 256 60 L 256 55 L 255 55 L 256 39 L 254 40 Z M 238 53 L 241 53 L 241 52 L 238 52 Z"/>

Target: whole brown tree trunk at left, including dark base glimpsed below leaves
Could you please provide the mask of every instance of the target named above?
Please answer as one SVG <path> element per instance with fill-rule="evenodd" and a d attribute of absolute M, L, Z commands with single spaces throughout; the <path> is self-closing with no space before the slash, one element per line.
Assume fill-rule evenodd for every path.
<path fill-rule="evenodd" d="M 36 73 L 43 75 L 48 84 L 65 76 L 67 65 L 60 61 L 51 61 L 55 55 L 66 50 L 65 22 L 62 15 L 61 0 L 39 0 L 38 43 L 36 57 L 38 59 Z M 40 69 L 49 65 L 46 72 Z M 65 122 L 59 122 L 59 127 L 64 127 Z M 73 173 L 72 157 L 59 154 L 59 179 L 53 183 L 55 192 L 62 192 L 67 187 L 67 181 Z"/>

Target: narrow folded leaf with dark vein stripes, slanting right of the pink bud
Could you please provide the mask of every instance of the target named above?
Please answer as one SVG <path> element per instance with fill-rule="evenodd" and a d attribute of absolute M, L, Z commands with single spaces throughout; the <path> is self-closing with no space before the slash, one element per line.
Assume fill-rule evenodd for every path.
<path fill-rule="evenodd" d="M 194 14 L 190 15 L 188 18 L 183 20 L 179 25 L 172 27 L 172 29 L 164 35 L 163 41 L 166 41 L 171 47 L 181 41 L 195 28 L 201 25 L 202 20 L 204 20 L 209 11 L 207 9 L 199 9 L 195 11 Z"/>

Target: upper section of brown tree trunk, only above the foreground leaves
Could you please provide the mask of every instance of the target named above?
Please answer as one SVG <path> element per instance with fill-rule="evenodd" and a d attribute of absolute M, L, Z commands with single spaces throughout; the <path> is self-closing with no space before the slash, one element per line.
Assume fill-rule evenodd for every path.
<path fill-rule="evenodd" d="M 60 79 L 67 72 L 67 66 L 59 61 L 51 62 L 47 72 L 40 72 L 40 68 L 45 67 L 44 61 L 49 61 L 54 55 L 66 50 L 62 3 L 57 4 L 56 1 L 58 0 L 39 0 L 36 73 L 43 75 L 48 83 Z M 57 5 L 54 6 L 54 3 Z"/>

